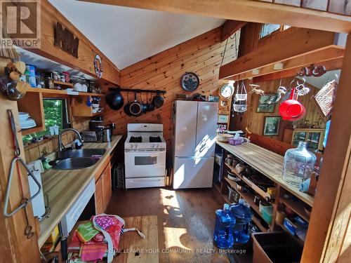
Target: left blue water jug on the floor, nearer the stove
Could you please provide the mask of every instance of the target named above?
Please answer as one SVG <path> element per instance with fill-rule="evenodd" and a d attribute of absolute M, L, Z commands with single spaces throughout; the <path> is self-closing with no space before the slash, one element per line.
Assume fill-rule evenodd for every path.
<path fill-rule="evenodd" d="M 230 213 L 230 206 L 225 203 L 222 209 L 216 210 L 216 225 L 213 239 L 218 248 L 232 248 L 234 244 L 233 227 L 235 219 Z"/>

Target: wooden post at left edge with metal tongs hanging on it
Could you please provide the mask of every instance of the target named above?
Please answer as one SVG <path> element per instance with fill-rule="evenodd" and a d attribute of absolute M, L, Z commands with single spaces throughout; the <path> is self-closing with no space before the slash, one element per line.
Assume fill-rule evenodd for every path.
<path fill-rule="evenodd" d="M 13 217 L 5 218 L 3 215 L 8 170 L 10 170 L 10 164 L 13 159 L 13 139 L 6 109 L 12 109 L 15 116 L 17 130 L 20 130 L 20 125 L 17 118 L 17 103 L 6 99 L 0 94 L 0 105 L 0 262 L 37 263 L 40 262 L 40 256 L 32 204 L 29 203 L 29 205 L 27 205 L 29 224 L 33 227 L 32 231 L 34 231 L 34 236 L 30 239 L 25 236 L 26 221 L 23 209 L 13 215 Z M 17 137 L 20 144 L 21 157 L 25 159 L 21 133 L 17 133 Z M 19 189 L 17 170 L 14 169 L 13 173 L 11 196 L 8 205 L 9 211 L 12 211 L 13 208 L 17 207 L 22 198 Z M 21 168 L 21 180 L 25 197 L 29 198 L 27 172 L 24 168 Z"/>

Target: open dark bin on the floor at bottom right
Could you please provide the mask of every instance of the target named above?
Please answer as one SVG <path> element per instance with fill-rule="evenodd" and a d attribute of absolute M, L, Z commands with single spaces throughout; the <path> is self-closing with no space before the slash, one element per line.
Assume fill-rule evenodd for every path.
<path fill-rule="evenodd" d="M 252 238 L 253 262 L 300 262 L 303 245 L 285 231 L 254 233 Z"/>

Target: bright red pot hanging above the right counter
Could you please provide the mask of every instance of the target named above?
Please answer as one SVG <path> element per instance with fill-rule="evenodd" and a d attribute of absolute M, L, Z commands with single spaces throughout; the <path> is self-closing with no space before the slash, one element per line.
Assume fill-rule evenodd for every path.
<path fill-rule="evenodd" d="M 289 100 L 285 100 L 279 105 L 279 114 L 283 120 L 286 121 L 298 121 L 305 116 L 306 109 L 295 99 L 295 88 L 291 90 Z"/>

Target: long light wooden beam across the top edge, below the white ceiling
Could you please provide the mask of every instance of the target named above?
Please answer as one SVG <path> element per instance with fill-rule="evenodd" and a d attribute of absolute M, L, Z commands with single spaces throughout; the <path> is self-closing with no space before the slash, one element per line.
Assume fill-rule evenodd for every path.
<path fill-rule="evenodd" d="M 351 17 L 325 11 L 248 0 L 81 0 L 211 18 L 351 32 Z"/>

